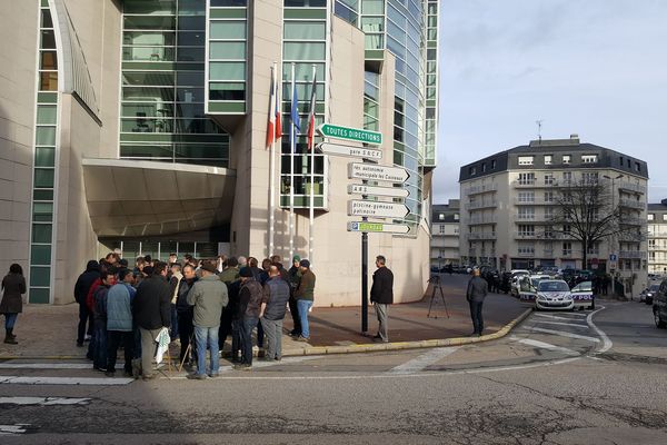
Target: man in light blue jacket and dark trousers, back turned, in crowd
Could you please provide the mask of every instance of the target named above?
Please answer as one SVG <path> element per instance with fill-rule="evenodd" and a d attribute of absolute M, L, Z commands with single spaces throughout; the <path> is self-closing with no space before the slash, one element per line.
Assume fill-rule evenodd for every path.
<path fill-rule="evenodd" d="M 111 286 L 107 293 L 107 373 L 113 377 L 116 373 L 116 357 L 118 346 L 122 344 L 125 353 L 125 375 L 132 376 L 132 357 L 135 354 L 135 335 L 132 332 L 132 306 L 137 290 L 132 287 L 135 274 L 129 269 L 121 269 L 118 274 L 118 284 Z"/>

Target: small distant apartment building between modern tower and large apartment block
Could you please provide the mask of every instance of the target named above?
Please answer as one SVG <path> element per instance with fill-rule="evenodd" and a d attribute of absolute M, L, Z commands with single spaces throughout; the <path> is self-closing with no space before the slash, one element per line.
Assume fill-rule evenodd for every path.
<path fill-rule="evenodd" d="M 448 204 L 434 205 L 431 214 L 431 266 L 458 266 L 460 200 L 450 199 Z"/>

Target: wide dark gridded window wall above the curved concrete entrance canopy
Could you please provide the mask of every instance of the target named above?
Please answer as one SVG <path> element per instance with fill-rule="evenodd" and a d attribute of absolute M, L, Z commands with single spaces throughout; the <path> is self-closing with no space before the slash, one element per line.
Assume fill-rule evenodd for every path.
<path fill-rule="evenodd" d="M 126 0 L 122 26 L 120 157 L 227 167 L 229 135 L 205 115 L 206 0 Z"/>

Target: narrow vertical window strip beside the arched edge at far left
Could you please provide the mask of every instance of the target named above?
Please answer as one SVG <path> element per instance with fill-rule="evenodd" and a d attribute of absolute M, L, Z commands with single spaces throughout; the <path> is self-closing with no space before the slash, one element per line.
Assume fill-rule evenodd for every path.
<path fill-rule="evenodd" d="M 48 1 L 40 1 L 37 116 L 30 224 L 28 300 L 50 303 L 58 126 L 58 53 Z"/>

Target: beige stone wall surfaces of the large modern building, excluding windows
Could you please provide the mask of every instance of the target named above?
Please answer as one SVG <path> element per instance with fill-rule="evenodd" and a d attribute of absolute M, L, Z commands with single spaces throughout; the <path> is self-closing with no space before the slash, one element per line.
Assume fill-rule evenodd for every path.
<path fill-rule="evenodd" d="M 176 1 L 160 4 L 176 4 Z M 130 265 L 139 254 L 166 257 L 179 241 L 181 256 L 188 251 L 202 257 L 223 253 L 251 255 L 261 260 L 279 254 L 285 263 L 289 261 L 289 211 L 280 204 L 275 211 L 273 251 L 269 251 L 268 247 L 271 160 L 270 150 L 266 147 L 267 105 L 270 68 L 273 62 L 281 65 L 283 51 L 285 23 L 277 19 L 283 14 L 281 3 L 268 0 L 248 2 L 246 111 L 211 112 L 207 116 L 229 135 L 228 165 L 209 167 L 179 165 L 176 159 L 171 164 L 150 157 L 132 159 L 123 155 L 123 137 L 128 139 L 128 134 L 137 140 L 149 136 L 142 134 L 148 128 L 142 121 L 139 128 L 123 129 L 123 120 L 127 120 L 122 110 L 123 100 L 127 101 L 125 89 L 131 82 L 125 73 L 127 70 L 150 70 L 152 68 L 143 66 L 151 63 L 165 70 L 163 59 L 167 58 L 162 49 L 153 49 L 155 55 L 150 55 L 147 61 L 133 58 L 132 51 L 137 48 L 132 46 L 141 47 L 142 43 L 140 40 L 140 43 L 132 43 L 131 36 L 126 36 L 128 26 L 123 1 L 8 2 L 0 17 L 0 36 L 3 41 L 18 43 L 0 50 L 0 78 L 3 79 L 0 82 L 0 270 L 8 269 L 11 263 L 21 264 L 30 283 L 31 301 L 72 301 L 73 284 L 87 260 L 99 258 L 100 254 L 113 248 L 123 253 Z M 216 11 L 220 17 L 229 13 L 222 9 Z M 238 16 L 238 10 L 232 12 L 229 17 Z M 44 13 L 52 18 L 52 26 L 44 24 Z M 290 13 L 292 19 L 303 16 L 298 9 Z M 308 11 L 303 17 L 311 13 Z M 136 11 L 131 14 L 140 16 Z M 159 12 L 158 16 L 161 14 Z M 365 73 L 369 66 L 372 67 L 379 75 L 377 120 L 385 140 L 380 147 L 384 151 L 380 164 L 392 166 L 396 58 L 388 50 L 375 51 L 369 65 L 367 39 L 360 27 L 336 17 L 332 8 L 327 8 L 325 16 L 323 119 L 339 126 L 365 128 Z M 40 32 L 44 28 L 54 34 L 56 48 L 40 43 Z M 57 86 L 38 82 L 40 70 L 44 70 L 43 61 L 38 59 L 44 51 L 58 55 L 58 67 L 52 69 Z M 208 53 L 206 58 L 208 62 Z M 151 79 L 153 82 L 168 81 L 169 76 L 176 77 L 177 68 L 163 71 L 166 77 L 160 78 L 160 71 Z M 307 99 L 300 98 L 301 101 Z M 173 100 L 178 102 L 179 99 Z M 57 120 L 49 123 L 56 135 L 53 165 L 48 167 L 48 171 L 52 171 L 53 194 L 46 201 L 43 194 L 39 199 L 32 197 L 36 189 L 33 175 L 41 168 L 34 162 L 41 144 L 36 140 L 39 139 L 36 126 L 41 125 L 36 118 L 40 113 L 38 109 L 42 109 L 40 107 L 57 109 L 57 118 L 53 118 Z M 137 113 L 137 118 L 139 116 Z M 142 111 L 141 118 L 136 120 L 143 120 L 143 117 L 146 113 Z M 149 118 L 146 117 L 146 120 Z M 155 140 L 162 136 L 157 132 L 156 126 L 150 135 Z M 279 182 L 280 148 L 277 151 L 276 181 Z M 347 202 L 351 198 L 347 192 L 350 182 L 347 166 L 352 160 L 325 157 L 326 206 L 315 214 L 312 237 L 311 261 L 318 277 L 316 306 L 360 304 L 361 235 L 347 231 L 347 221 L 356 219 L 347 214 Z M 424 171 L 418 168 L 424 174 L 424 180 L 419 182 L 422 189 L 414 199 L 420 199 L 424 209 L 428 208 L 430 199 L 432 167 Z M 279 190 L 277 184 L 275 194 L 278 202 Z M 46 227 L 39 224 L 46 220 L 38 215 L 36 206 L 52 208 L 49 216 L 52 219 L 48 220 L 52 233 L 48 239 L 47 235 L 37 239 L 37 230 L 43 231 Z M 295 254 L 306 258 L 311 247 L 308 209 L 298 208 L 295 219 Z M 395 271 L 397 303 L 420 299 L 429 276 L 428 217 L 412 222 L 407 236 L 369 235 L 369 275 L 374 271 L 375 256 L 386 256 L 388 266 Z M 208 250 L 198 249 L 197 241 L 206 244 Z M 131 249 L 127 247 L 129 244 L 140 247 Z M 147 247 L 149 245 L 150 248 Z M 158 246 L 157 250 L 155 246 Z M 215 250 L 210 246 L 215 246 Z"/>

